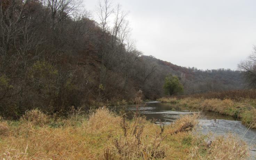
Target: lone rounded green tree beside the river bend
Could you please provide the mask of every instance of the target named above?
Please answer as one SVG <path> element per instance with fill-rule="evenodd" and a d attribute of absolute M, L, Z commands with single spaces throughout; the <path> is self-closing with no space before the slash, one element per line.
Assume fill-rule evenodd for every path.
<path fill-rule="evenodd" d="M 163 85 L 163 88 L 165 89 L 165 93 L 170 96 L 183 92 L 183 85 L 177 76 L 168 75 L 165 78 L 165 84 Z"/>

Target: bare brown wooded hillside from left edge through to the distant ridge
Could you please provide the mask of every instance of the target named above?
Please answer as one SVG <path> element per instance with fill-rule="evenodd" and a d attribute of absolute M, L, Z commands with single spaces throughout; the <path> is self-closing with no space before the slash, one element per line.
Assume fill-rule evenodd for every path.
<path fill-rule="evenodd" d="M 198 70 L 143 55 L 130 39 L 128 13 L 107 0 L 97 6 L 97 21 L 76 0 L 1 0 L 0 9 L 2 117 L 131 101 L 139 89 L 144 99 L 156 99 L 169 74 L 179 77 L 183 94 L 246 86 L 241 71 Z"/>

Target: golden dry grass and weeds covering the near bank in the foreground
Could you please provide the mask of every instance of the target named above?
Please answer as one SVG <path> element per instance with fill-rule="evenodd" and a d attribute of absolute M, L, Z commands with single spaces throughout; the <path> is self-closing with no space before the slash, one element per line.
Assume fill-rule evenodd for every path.
<path fill-rule="evenodd" d="M 128 121 L 105 107 L 85 117 L 73 110 L 67 118 L 39 110 L 19 121 L 0 121 L 1 159 L 246 159 L 247 146 L 233 136 L 194 133 L 198 115 L 185 115 L 171 125 L 139 117 Z"/>

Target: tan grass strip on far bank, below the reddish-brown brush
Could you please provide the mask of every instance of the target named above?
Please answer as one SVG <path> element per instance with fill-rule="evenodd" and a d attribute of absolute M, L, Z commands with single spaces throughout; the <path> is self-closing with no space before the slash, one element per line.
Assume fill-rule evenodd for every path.
<path fill-rule="evenodd" d="M 218 98 L 171 98 L 163 97 L 157 99 L 160 102 L 177 103 L 200 110 L 213 111 L 223 115 L 230 115 L 241 118 L 244 125 L 250 128 L 256 128 L 256 100 L 249 98 L 240 98 L 239 100 L 218 99 Z"/>

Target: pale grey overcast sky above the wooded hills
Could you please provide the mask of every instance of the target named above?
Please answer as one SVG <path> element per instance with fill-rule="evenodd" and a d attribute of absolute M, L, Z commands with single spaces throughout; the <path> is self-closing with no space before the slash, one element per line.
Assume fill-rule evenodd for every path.
<path fill-rule="evenodd" d="M 144 55 L 198 69 L 237 69 L 256 45 L 256 0 L 112 0 L 130 11 Z M 84 0 L 94 19 L 97 0 Z"/>

